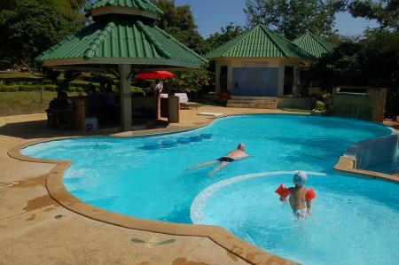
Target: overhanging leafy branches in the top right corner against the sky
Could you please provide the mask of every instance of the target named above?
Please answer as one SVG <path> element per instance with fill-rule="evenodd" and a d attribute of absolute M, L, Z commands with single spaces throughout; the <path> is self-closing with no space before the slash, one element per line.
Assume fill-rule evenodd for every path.
<path fill-rule="evenodd" d="M 355 18 L 376 19 L 381 27 L 399 30 L 399 1 L 352 0 L 348 12 Z"/>

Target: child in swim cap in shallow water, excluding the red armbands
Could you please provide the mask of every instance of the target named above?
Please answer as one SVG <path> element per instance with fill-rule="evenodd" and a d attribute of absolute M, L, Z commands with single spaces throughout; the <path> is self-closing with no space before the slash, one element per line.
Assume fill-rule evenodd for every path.
<path fill-rule="evenodd" d="M 306 192 L 308 190 L 304 186 L 307 180 L 308 175 L 306 175 L 305 172 L 297 171 L 293 175 L 295 187 L 288 188 L 288 191 L 290 191 L 288 201 L 293 209 L 293 214 L 297 218 L 302 218 L 311 214 L 312 203 L 311 200 L 306 199 Z"/>

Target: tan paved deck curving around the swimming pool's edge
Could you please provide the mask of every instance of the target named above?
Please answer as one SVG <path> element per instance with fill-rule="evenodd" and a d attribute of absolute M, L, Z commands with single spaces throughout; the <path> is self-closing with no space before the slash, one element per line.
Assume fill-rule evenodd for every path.
<path fill-rule="evenodd" d="M 180 122 L 164 129 L 98 133 L 153 134 L 196 128 L 215 119 L 198 113 L 287 112 L 202 105 L 181 110 Z M 62 176 L 67 163 L 20 160 L 17 152 L 32 142 L 87 135 L 92 134 L 49 129 L 45 113 L 0 117 L 0 264 L 296 264 L 219 227 L 167 223 L 165 228 L 160 222 L 88 207 L 59 188 L 62 177 L 57 175 Z"/>

